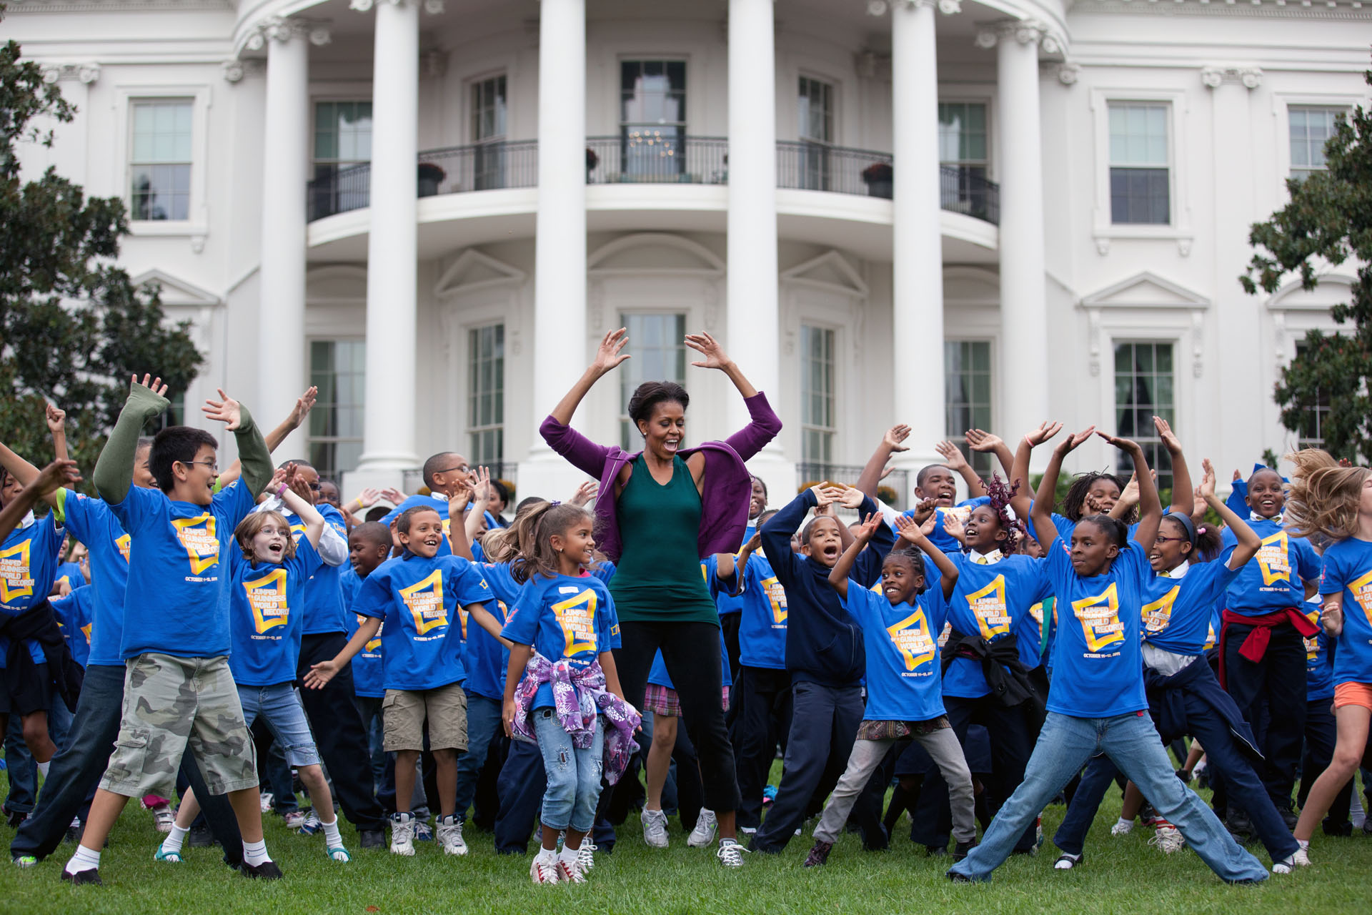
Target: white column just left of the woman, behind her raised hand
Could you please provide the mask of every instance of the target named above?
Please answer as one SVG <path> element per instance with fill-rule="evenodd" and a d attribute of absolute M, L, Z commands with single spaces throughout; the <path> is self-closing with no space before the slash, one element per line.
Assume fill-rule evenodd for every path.
<path fill-rule="evenodd" d="M 534 428 L 584 370 L 586 0 L 542 0 L 538 34 L 538 215 L 534 239 Z M 604 333 L 609 328 L 595 328 Z M 608 377 L 601 384 L 617 384 Z M 578 418 L 584 410 L 578 410 Z M 561 498 L 580 477 L 536 432 L 520 491 Z"/>

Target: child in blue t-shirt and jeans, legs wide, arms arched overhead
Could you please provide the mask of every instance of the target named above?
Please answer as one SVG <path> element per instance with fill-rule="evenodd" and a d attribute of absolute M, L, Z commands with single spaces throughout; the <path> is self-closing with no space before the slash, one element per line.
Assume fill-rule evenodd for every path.
<path fill-rule="evenodd" d="M 1054 530 L 1052 495 L 1063 458 L 1095 433 L 1091 427 L 1054 449 L 1032 514 L 1040 534 Z M 1104 752 L 1222 879 L 1266 879 L 1268 871 L 1257 859 L 1239 848 L 1210 808 L 1176 778 L 1148 717 L 1140 649 L 1143 589 L 1152 576 L 1148 551 L 1162 505 L 1139 443 L 1100 438 L 1133 460 L 1142 510 L 1137 532 L 1131 542 L 1124 523 L 1092 514 L 1076 524 L 1070 549 L 1061 536 L 1044 543 L 1048 579 L 1062 608 L 1048 715 L 1025 781 L 1000 808 L 981 845 L 948 875 L 963 882 L 989 879 L 1044 805 L 1091 756 Z"/>

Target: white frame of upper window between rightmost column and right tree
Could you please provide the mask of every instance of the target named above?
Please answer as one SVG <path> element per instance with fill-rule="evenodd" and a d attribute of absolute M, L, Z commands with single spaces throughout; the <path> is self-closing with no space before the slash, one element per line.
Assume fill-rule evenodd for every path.
<path fill-rule="evenodd" d="M 1168 225 L 1115 224 L 1110 211 L 1110 106 L 1166 104 L 1168 106 L 1168 200 L 1172 222 Z M 1177 243 L 1183 255 L 1191 252 L 1195 230 L 1191 228 L 1191 196 L 1187 176 L 1180 163 L 1187 161 L 1185 122 L 1190 115 L 1190 96 L 1185 91 L 1137 91 L 1129 88 L 1096 88 L 1091 91 L 1091 114 L 1095 128 L 1096 196 L 1092 206 L 1092 239 L 1096 252 L 1110 252 L 1114 239 L 1168 239 Z"/>

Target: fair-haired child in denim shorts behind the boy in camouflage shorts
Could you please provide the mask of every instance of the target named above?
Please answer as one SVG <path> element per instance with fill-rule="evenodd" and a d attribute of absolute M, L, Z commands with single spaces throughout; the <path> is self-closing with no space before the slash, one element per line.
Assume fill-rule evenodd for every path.
<path fill-rule="evenodd" d="M 266 722 L 285 761 L 299 772 L 300 783 L 310 793 L 324 829 L 325 855 L 335 861 L 348 861 L 351 855 L 339 833 L 318 748 L 295 691 L 306 616 L 305 584 L 322 565 L 318 543 L 325 521 L 314 505 L 291 490 L 294 475 L 294 465 L 277 471 L 268 488 L 279 491 L 285 508 L 299 519 L 305 528 L 299 539 L 292 538 L 291 521 L 274 510 L 254 512 L 233 531 L 237 549 L 229 553 L 230 578 L 221 593 L 233 639 L 229 669 L 239 689 L 244 722 L 248 727 L 258 717 Z M 182 840 L 199 809 L 195 794 L 185 792 L 176 823 L 156 851 L 156 860 L 181 861 Z"/>

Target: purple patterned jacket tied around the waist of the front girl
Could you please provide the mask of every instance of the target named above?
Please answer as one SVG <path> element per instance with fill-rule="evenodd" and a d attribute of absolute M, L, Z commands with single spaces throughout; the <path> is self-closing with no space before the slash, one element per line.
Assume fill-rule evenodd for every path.
<path fill-rule="evenodd" d="M 605 716 L 605 781 L 619 782 L 628 760 L 638 752 L 634 730 L 642 716 L 632 705 L 605 690 L 605 672 L 600 661 L 590 667 L 573 668 L 565 660 L 549 661 L 534 652 L 524 667 L 524 676 L 514 687 L 514 722 L 512 737 L 516 741 L 538 744 L 528 716 L 534 711 L 538 687 L 550 683 L 553 687 L 557 722 L 572 735 L 572 745 L 587 749 L 595 734 L 595 716 Z"/>

